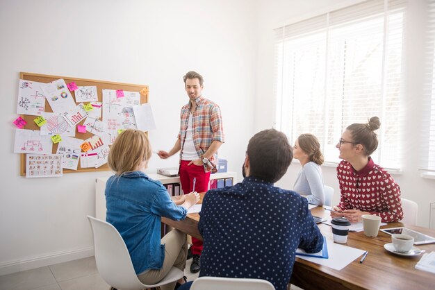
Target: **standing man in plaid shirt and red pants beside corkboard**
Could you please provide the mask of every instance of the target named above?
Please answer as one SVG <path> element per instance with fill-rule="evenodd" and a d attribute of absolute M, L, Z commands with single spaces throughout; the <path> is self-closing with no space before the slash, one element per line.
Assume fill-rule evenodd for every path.
<path fill-rule="evenodd" d="M 169 152 L 158 151 L 166 159 L 180 151 L 179 175 L 184 194 L 208 190 L 211 171 L 217 171 L 217 149 L 224 143 L 220 108 L 202 96 L 204 79 L 195 71 L 183 76 L 189 103 L 181 108 L 180 132 Z M 193 188 L 195 185 L 195 188 Z M 202 241 L 192 237 L 190 272 L 201 270 Z"/>

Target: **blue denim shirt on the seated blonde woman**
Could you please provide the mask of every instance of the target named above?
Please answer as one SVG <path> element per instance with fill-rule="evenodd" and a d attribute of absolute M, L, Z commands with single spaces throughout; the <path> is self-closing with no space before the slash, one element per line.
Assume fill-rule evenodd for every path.
<path fill-rule="evenodd" d="M 142 171 L 111 176 L 106 182 L 106 221 L 112 224 L 129 249 L 136 274 L 161 269 L 161 216 L 179 221 L 187 210 L 172 202 L 161 182 Z"/>

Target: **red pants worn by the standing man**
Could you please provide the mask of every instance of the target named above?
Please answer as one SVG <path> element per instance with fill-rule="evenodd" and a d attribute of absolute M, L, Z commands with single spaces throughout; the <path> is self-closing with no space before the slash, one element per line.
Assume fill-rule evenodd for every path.
<path fill-rule="evenodd" d="M 195 181 L 195 191 L 205 192 L 208 190 L 208 184 L 210 183 L 210 172 L 204 172 L 204 167 L 188 164 L 190 161 L 181 160 L 180 165 L 180 182 L 181 189 L 183 189 L 184 194 L 189 194 L 194 190 L 193 188 L 193 178 Z M 192 237 L 192 246 L 190 247 L 192 255 L 201 255 L 202 253 L 202 241 Z"/>

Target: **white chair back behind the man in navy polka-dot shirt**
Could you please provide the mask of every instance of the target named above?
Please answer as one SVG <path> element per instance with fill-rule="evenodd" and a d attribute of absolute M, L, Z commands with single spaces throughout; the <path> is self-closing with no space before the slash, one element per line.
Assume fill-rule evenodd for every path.
<path fill-rule="evenodd" d="M 190 290 L 275 290 L 275 287 L 262 279 L 199 277 Z"/>

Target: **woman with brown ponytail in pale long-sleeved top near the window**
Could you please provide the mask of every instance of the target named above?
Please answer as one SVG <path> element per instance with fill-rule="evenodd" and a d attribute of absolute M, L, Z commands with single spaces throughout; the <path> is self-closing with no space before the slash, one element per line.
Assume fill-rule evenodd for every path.
<path fill-rule="evenodd" d="M 302 165 L 293 190 L 305 196 L 312 205 L 323 205 L 325 189 L 320 165 L 324 157 L 320 151 L 319 140 L 312 134 L 300 135 L 295 142 L 293 157 Z"/>

